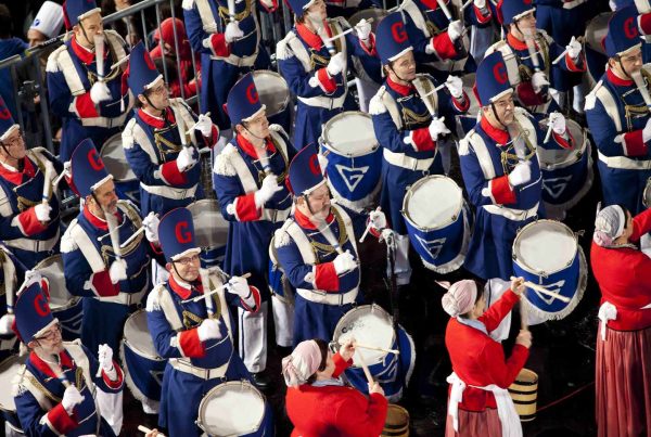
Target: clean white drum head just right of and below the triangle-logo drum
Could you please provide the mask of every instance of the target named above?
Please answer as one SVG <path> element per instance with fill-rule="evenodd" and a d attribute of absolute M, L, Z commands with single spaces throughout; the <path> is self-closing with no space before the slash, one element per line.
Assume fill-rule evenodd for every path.
<path fill-rule="evenodd" d="M 419 229 L 439 229 L 456 221 L 462 206 L 457 182 L 445 176 L 426 176 L 407 190 L 403 214 Z"/>

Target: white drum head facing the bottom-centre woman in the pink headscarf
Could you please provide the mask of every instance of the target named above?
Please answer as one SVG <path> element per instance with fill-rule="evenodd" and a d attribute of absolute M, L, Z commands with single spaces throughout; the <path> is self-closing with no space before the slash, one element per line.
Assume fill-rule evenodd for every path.
<path fill-rule="evenodd" d="M 376 305 L 363 305 L 352 309 L 344 314 L 334 329 L 335 342 L 345 342 L 349 338 L 355 338 L 360 344 L 391 349 L 395 342 L 393 319 Z M 380 350 L 358 348 L 353 356 L 353 362 L 357 367 L 360 365 L 359 352 L 369 365 L 381 362 L 386 356 L 386 352 Z"/>

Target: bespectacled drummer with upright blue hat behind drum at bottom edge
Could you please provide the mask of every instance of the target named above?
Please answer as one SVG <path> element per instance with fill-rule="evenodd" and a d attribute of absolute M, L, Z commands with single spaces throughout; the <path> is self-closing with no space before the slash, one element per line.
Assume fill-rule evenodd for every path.
<path fill-rule="evenodd" d="M 169 280 L 156 285 L 146 300 L 152 340 L 157 354 L 169 360 L 163 376 L 158 425 L 166 427 L 170 436 L 197 436 L 201 433 L 194 421 L 202 397 L 225 381 L 250 380 L 233 350 L 229 304 L 258 311 L 260 293 L 244 278 L 229 280 L 217 269 L 206 280 L 206 286 L 217 293 L 207 299 L 187 301 L 205 293 L 192 214 L 186 208 L 167 213 L 161 219 L 158 234 Z M 270 426 L 268 435 L 273 434 Z"/>

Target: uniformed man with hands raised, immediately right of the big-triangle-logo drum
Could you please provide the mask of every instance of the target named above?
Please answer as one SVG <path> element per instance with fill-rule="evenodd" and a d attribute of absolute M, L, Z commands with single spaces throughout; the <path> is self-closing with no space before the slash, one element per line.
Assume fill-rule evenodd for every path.
<path fill-rule="evenodd" d="M 399 13 L 393 13 L 380 22 L 376 34 L 378 52 L 382 59 L 386 80 L 371 100 L 370 114 L 373 118 L 375 137 L 384 150 L 382 162 L 381 204 L 391 216 L 396 235 L 396 273 L 398 285 L 409 283 L 409 237 L 400 210 L 407 188 L 430 173 L 444 172 L 439 140 L 450 133 L 445 116 L 462 114 L 470 107 L 470 99 L 463 92 L 461 79 L 449 76 L 445 87 L 432 97 L 425 97 L 434 113 L 412 85 L 422 83 L 433 91 L 434 81 L 429 76 L 416 74 L 413 48 Z"/>

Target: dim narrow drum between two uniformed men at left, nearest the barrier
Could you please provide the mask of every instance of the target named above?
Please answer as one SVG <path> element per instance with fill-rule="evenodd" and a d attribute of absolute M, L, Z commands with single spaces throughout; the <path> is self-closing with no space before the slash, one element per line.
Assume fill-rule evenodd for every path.
<path fill-rule="evenodd" d="M 106 166 L 106 171 L 113 175 L 118 197 L 140 206 L 140 181 L 127 162 L 122 143 L 122 132 L 112 136 L 102 145 L 100 156 Z"/>

